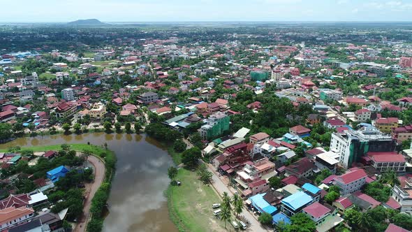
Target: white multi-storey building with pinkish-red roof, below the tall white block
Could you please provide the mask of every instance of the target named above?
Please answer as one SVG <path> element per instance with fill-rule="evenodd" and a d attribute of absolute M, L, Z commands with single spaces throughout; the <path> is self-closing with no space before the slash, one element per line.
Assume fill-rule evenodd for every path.
<path fill-rule="evenodd" d="M 360 190 L 363 185 L 366 184 L 366 173 L 363 169 L 358 169 L 345 173 L 344 175 L 339 175 L 334 177 L 334 184 L 336 184 L 340 191 L 341 195 L 351 194 L 355 191 Z"/>

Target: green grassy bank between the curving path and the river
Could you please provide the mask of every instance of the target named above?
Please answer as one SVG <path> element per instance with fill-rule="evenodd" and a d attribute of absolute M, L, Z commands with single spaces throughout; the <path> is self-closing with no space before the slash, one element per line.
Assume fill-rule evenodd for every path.
<path fill-rule="evenodd" d="M 89 157 L 88 159 L 91 162 L 91 164 L 94 164 L 94 166 L 96 167 L 95 175 L 98 174 L 99 178 L 97 179 L 100 180 L 96 182 L 96 186 L 90 186 L 90 189 L 93 190 L 90 191 L 89 194 L 89 196 L 91 197 L 88 196 L 86 202 L 84 203 L 84 210 L 90 211 L 84 212 L 84 216 L 86 217 L 85 224 L 87 224 L 87 226 L 76 226 L 75 231 L 82 232 L 86 229 L 90 232 L 101 231 L 103 228 L 104 221 L 102 212 L 110 194 L 110 182 L 115 171 L 115 153 L 110 150 L 106 150 L 103 147 L 87 144 L 70 144 L 68 145 L 68 149 L 92 155 L 92 157 Z M 49 150 L 64 150 L 64 148 L 61 147 L 61 145 L 43 145 L 33 147 L 22 147 L 21 150 L 46 152 Z M 0 151 L 6 152 L 6 150 Z M 97 167 L 101 167 L 98 166 L 99 161 L 102 161 L 102 163 L 104 164 L 104 174 L 98 173 Z M 102 175 L 103 177 L 101 177 Z"/>

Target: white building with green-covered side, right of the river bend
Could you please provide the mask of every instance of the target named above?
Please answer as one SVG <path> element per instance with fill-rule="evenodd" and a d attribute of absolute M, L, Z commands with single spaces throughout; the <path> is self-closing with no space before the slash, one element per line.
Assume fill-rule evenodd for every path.
<path fill-rule="evenodd" d="M 230 118 L 228 115 L 218 111 L 207 118 L 207 124 L 200 127 L 199 133 L 203 139 L 216 138 L 228 131 L 229 125 Z"/>

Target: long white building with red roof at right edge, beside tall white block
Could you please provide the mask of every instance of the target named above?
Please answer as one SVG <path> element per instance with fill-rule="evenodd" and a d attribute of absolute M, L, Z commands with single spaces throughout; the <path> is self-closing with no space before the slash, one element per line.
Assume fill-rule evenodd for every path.
<path fill-rule="evenodd" d="M 367 156 L 371 159 L 371 166 L 374 166 L 376 171 L 406 171 L 405 157 L 397 152 L 368 152 Z"/>

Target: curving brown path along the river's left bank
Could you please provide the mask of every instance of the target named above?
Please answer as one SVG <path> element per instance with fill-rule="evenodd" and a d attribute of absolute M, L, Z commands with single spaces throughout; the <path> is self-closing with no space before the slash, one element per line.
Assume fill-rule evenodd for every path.
<path fill-rule="evenodd" d="M 78 153 L 78 155 L 80 154 L 81 153 Z M 81 222 L 76 224 L 75 229 L 73 230 L 75 232 L 86 231 L 87 220 L 89 219 L 90 215 L 91 199 L 93 199 L 94 194 L 96 194 L 98 187 L 101 186 L 105 177 L 105 164 L 103 164 L 103 162 L 100 159 L 94 156 L 89 156 L 87 157 L 87 161 L 89 161 L 90 164 L 94 166 L 94 181 L 91 182 L 91 184 L 86 184 L 85 188 L 87 196 L 83 208 L 83 217 Z"/>

